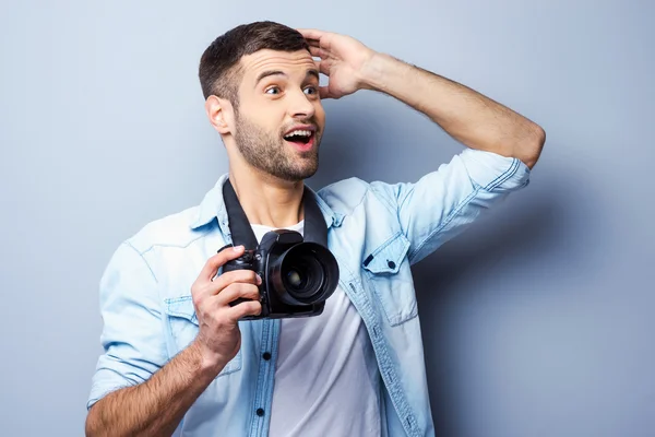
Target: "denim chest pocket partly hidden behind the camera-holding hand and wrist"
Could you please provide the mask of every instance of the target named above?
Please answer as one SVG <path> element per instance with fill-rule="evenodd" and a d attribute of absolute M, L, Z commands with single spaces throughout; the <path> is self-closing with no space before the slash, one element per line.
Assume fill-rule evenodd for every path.
<path fill-rule="evenodd" d="M 169 334 L 168 352 L 175 356 L 184 350 L 198 335 L 199 324 L 191 295 L 167 298 L 164 300 L 166 328 Z M 241 350 L 221 370 L 216 378 L 241 369 Z"/>

